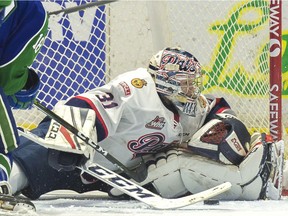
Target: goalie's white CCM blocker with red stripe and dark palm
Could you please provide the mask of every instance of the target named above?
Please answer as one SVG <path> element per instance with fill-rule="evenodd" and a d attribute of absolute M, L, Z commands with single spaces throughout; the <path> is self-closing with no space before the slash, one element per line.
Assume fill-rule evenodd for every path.
<path fill-rule="evenodd" d="M 96 114 L 93 110 L 58 103 L 54 112 L 85 136 L 97 142 Z M 95 152 L 85 141 L 53 119 L 45 140 L 47 147 L 50 148 L 49 164 L 57 170 L 72 170 L 79 163 L 84 163 L 83 159 L 90 158 L 90 155 L 94 155 Z"/>

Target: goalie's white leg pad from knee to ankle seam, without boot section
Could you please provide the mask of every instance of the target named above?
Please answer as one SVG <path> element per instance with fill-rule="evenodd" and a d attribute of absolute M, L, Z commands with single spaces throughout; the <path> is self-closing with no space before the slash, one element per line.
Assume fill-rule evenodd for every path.
<path fill-rule="evenodd" d="M 151 163 L 153 160 L 154 163 Z M 148 177 L 141 185 L 152 182 L 157 192 L 165 198 L 198 193 L 226 181 L 232 183 L 232 188 L 217 198 L 231 200 L 241 196 L 242 178 L 237 166 L 224 165 L 181 150 L 157 154 L 147 163 Z"/>

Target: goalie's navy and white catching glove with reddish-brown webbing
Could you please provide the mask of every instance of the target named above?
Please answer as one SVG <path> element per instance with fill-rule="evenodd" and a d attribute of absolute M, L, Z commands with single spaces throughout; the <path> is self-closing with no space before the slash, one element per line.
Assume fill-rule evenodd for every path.
<path fill-rule="evenodd" d="M 201 127 L 188 143 L 188 149 L 224 164 L 239 165 L 249 150 L 250 134 L 235 116 L 217 114 Z"/>

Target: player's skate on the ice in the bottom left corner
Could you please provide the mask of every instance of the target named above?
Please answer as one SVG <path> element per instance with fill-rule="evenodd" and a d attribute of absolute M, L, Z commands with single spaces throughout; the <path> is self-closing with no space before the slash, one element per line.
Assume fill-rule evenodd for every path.
<path fill-rule="evenodd" d="M 36 211 L 36 208 L 29 199 L 0 194 L 0 210 L 27 213 Z"/>

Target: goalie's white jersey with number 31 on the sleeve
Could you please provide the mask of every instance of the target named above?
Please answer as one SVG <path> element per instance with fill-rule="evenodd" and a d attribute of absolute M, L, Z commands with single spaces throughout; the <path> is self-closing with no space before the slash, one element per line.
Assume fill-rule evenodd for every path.
<path fill-rule="evenodd" d="M 195 116 L 176 110 L 172 103 L 159 97 L 153 78 L 143 68 L 70 98 L 66 105 L 95 111 L 98 144 L 127 167 L 138 164 L 138 156 L 188 141 L 202 126 L 210 109 L 201 95 Z M 99 153 L 94 158 L 97 163 L 116 169 Z"/>

